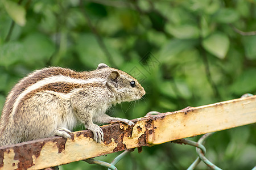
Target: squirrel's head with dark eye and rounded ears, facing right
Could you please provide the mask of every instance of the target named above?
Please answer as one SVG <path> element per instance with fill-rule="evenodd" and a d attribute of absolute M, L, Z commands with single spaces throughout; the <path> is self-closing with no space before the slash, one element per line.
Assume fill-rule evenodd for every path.
<path fill-rule="evenodd" d="M 100 63 L 97 67 L 98 69 L 106 69 L 108 73 L 106 85 L 114 92 L 118 103 L 141 99 L 146 93 L 141 84 L 133 76 L 130 76 L 124 71 L 110 68 L 104 63 Z"/>

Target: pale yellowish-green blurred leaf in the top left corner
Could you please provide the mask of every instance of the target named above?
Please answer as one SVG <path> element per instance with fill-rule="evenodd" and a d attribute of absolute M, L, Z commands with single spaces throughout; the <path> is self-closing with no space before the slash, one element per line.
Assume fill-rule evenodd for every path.
<path fill-rule="evenodd" d="M 14 22 L 20 26 L 24 26 L 26 24 L 26 10 L 24 7 L 13 1 L 3 0 L 2 2 L 3 6 L 5 6 L 5 10 L 14 20 Z"/>

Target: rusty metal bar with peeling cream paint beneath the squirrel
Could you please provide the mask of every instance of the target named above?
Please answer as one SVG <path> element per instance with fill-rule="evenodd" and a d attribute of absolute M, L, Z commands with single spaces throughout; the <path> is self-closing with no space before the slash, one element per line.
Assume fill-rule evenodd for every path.
<path fill-rule="evenodd" d="M 0 169 L 43 169 L 94 158 L 129 148 L 158 145 L 176 139 L 230 129 L 256 122 L 256 96 L 223 101 L 133 120 L 134 126 L 102 126 L 104 143 L 89 130 L 72 139 L 52 137 L 0 147 Z"/>

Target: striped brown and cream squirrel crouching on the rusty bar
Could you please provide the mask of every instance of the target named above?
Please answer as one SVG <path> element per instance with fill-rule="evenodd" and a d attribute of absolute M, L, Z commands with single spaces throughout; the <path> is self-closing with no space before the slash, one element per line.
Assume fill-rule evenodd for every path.
<path fill-rule="evenodd" d="M 0 146 L 58 135 L 71 138 L 81 122 L 103 141 L 98 123 L 124 122 L 106 110 L 122 101 L 141 99 L 145 91 L 124 71 L 100 63 L 96 70 L 76 72 L 61 67 L 37 70 L 21 79 L 7 96 L 0 121 Z"/>

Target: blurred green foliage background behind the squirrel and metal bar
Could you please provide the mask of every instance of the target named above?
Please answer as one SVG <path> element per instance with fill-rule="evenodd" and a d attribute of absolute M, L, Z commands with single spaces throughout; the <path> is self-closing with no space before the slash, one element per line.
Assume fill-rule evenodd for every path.
<path fill-rule="evenodd" d="M 254 0 L 1 2 L 0 109 L 32 70 L 93 70 L 102 62 L 134 74 L 146 90 L 137 103 L 110 109 L 112 116 L 133 119 L 256 94 Z M 252 169 L 255 143 L 255 124 L 220 131 L 205 143 L 207 158 L 223 169 Z M 111 162 L 118 154 L 97 159 Z M 194 159 L 195 148 L 169 142 L 135 150 L 117 168 L 185 169 Z M 60 168 L 106 169 L 85 162 Z"/>

